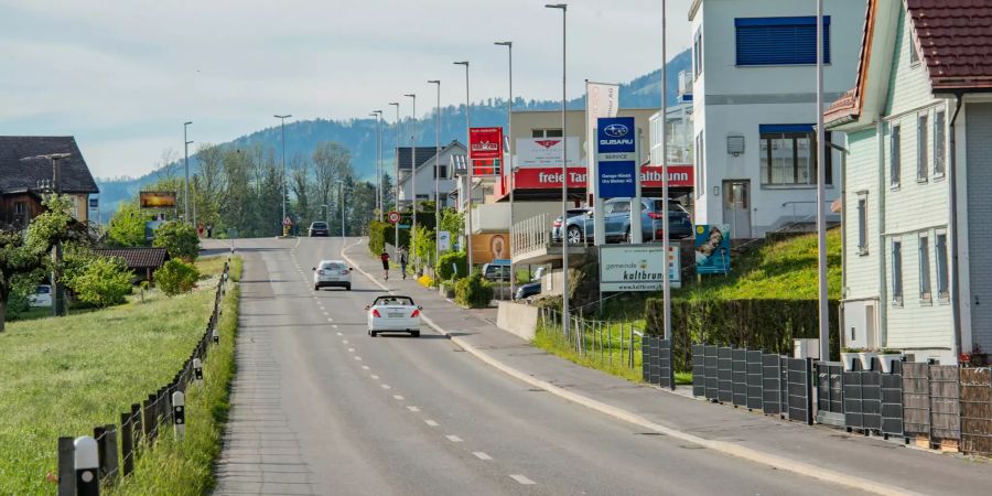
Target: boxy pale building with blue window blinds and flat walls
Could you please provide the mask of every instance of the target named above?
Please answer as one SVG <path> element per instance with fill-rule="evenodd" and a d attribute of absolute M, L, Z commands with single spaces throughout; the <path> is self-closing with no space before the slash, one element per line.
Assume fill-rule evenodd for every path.
<path fill-rule="evenodd" d="M 864 9 L 865 0 L 824 2 L 824 107 L 854 78 Z M 816 3 L 696 0 L 689 21 L 696 222 L 729 224 L 735 238 L 811 226 Z M 828 202 L 841 188 L 838 160 L 827 153 Z"/>

